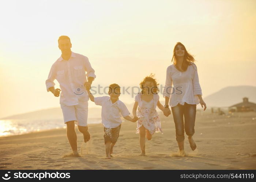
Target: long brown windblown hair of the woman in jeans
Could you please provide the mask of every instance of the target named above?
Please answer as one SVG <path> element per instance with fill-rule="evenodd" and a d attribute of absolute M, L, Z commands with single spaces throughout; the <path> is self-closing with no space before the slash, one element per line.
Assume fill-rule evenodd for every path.
<path fill-rule="evenodd" d="M 184 51 L 185 51 L 185 54 L 184 54 L 184 60 L 182 62 L 182 70 L 180 70 L 180 68 L 178 68 L 176 65 L 177 65 L 177 56 L 176 56 L 176 53 L 175 53 L 175 50 L 177 48 L 178 45 L 181 45 L 182 47 L 184 47 Z M 173 58 L 172 58 L 172 62 L 174 64 L 174 66 L 177 68 L 177 70 L 179 71 L 186 71 L 188 66 L 191 65 L 191 64 L 195 64 L 195 59 L 193 57 L 193 55 L 189 54 L 188 51 L 186 50 L 185 46 L 180 43 L 180 42 L 177 42 L 174 49 L 173 49 Z"/>

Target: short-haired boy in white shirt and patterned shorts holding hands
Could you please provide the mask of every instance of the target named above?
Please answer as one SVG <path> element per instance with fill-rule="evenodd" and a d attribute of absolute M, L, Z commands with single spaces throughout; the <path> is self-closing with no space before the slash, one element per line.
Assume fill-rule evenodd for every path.
<path fill-rule="evenodd" d="M 131 118 L 129 116 L 130 112 L 128 111 L 125 104 L 118 99 L 120 96 L 120 86 L 118 84 L 114 83 L 109 86 L 109 96 L 94 98 L 90 92 L 90 86 L 87 86 L 86 90 L 88 91 L 90 100 L 93 101 L 96 105 L 102 106 L 101 118 L 105 132 L 105 159 L 110 159 L 110 157 L 113 157 L 111 154 L 113 153 L 113 147 L 116 144 L 121 128 L 121 115 L 124 117 L 124 119 L 127 119 L 131 122 L 136 122 L 138 118 Z"/>

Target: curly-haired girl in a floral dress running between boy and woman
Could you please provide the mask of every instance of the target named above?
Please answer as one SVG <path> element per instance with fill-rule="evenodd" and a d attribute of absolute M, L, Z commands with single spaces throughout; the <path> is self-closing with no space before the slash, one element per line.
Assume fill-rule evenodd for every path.
<path fill-rule="evenodd" d="M 158 86 L 154 75 L 150 74 L 140 83 L 141 92 L 135 96 L 132 114 L 138 117 L 136 133 L 140 134 L 141 156 L 145 155 L 145 136 L 151 140 L 154 132 L 162 132 L 161 120 L 157 114 L 156 107 L 164 111 L 159 102 Z M 139 106 L 139 107 L 138 107 Z M 137 111 L 138 107 L 138 112 Z"/>

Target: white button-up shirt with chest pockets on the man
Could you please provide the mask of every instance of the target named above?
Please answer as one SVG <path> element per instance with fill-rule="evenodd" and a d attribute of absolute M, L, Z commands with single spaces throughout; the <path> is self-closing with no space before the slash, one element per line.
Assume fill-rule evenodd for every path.
<path fill-rule="evenodd" d="M 60 104 L 74 106 L 78 104 L 78 100 L 89 100 L 89 95 L 85 86 L 83 86 L 89 77 L 96 78 L 89 59 L 81 54 L 71 52 L 69 60 L 64 60 L 60 56 L 53 63 L 48 79 L 45 82 L 46 89 L 49 92 L 49 88 L 54 87 L 54 80 L 56 79 L 60 84 L 61 90 Z"/>

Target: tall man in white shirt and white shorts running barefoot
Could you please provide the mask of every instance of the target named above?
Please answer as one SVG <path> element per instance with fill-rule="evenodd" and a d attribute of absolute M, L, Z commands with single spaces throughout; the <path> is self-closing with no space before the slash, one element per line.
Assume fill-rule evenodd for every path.
<path fill-rule="evenodd" d="M 90 134 L 87 127 L 89 95 L 86 87 L 90 88 L 96 75 L 86 56 L 71 51 L 72 44 L 68 36 L 60 36 L 58 43 L 61 56 L 50 69 L 46 88 L 54 96 L 59 97 L 60 95 L 64 123 L 67 124 L 67 138 L 73 155 L 79 156 L 75 124 L 83 134 L 84 142 L 89 141 Z M 55 79 L 59 82 L 60 89 L 54 88 Z"/>

